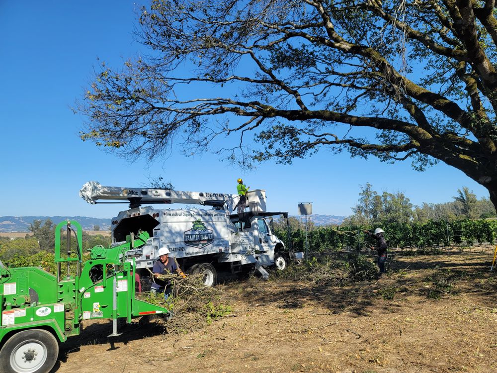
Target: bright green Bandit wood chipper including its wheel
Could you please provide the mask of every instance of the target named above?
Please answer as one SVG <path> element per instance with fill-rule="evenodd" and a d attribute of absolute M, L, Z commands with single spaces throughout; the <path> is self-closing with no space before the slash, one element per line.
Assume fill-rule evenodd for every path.
<path fill-rule="evenodd" d="M 64 228 L 66 244 L 61 245 Z M 96 246 L 83 255 L 81 225 L 65 221 L 55 231 L 55 276 L 38 267 L 7 268 L 0 262 L 0 372 L 50 372 L 59 344 L 79 335 L 84 320 L 110 319 L 109 336 L 118 336 L 119 318 L 169 317 L 166 308 L 135 297 L 135 259 L 126 253 L 149 238 L 147 232 L 130 234 L 122 245 Z"/>

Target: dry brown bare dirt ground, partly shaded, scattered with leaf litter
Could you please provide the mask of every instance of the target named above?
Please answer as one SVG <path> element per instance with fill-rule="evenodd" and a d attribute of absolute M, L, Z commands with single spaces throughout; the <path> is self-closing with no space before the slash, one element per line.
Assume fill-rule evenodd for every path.
<path fill-rule="evenodd" d="M 391 253 L 387 279 L 344 287 L 225 283 L 230 315 L 185 334 L 137 321 L 112 344 L 109 323 L 89 324 L 54 372 L 497 372 L 492 257 Z"/>

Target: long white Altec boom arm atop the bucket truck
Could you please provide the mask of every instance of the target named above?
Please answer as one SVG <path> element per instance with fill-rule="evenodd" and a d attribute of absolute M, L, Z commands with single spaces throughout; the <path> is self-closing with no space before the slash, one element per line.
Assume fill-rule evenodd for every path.
<path fill-rule="evenodd" d="M 160 188 L 104 187 L 97 182 L 88 182 L 81 188 L 80 197 L 91 204 L 129 201 L 130 208 L 139 207 L 144 203 L 186 203 L 228 209 L 231 208 L 233 200 L 238 195 Z M 112 202 L 100 202 L 100 199 L 111 200 Z"/>

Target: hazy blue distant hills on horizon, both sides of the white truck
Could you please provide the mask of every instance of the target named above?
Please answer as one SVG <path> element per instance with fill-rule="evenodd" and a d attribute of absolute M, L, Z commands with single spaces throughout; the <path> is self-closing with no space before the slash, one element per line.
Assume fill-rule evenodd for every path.
<path fill-rule="evenodd" d="M 299 220 L 305 221 L 304 215 L 293 216 Z M 84 230 L 93 230 L 93 226 L 100 226 L 100 230 L 106 231 L 110 227 L 110 218 L 98 219 L 86 216 L 0 216 L 0 233 L 1 232 L 29 232 L 29 225 L 35 220 L 50 219 L 54 224 L 58 224 L 63 220 L 76 220 L 81 224 Z M 314 222 L 315 225 L 341 224 L 345 216 L 335 215 L 308 215 L 308 220 Z"/>

